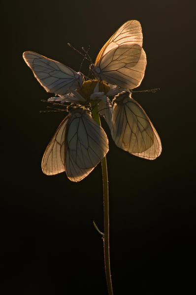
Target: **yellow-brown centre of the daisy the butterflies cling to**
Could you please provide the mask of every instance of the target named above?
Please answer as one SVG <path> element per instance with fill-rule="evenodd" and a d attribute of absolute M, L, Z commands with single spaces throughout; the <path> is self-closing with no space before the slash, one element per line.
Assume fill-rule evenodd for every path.
<path fill-rule="evenodd" d="M 85 98 L 87 101 L 90 100 L 90 96 L 94 93 L 95 87 L 98 83 L 98 80 L 87 80 L 83 83 L 82 87 L 80 89 L 77 89 L 77 92 Z M 98 91 L 106 93 L 110 90 L 110 87 L 104 83 L 99 82 Z"/>

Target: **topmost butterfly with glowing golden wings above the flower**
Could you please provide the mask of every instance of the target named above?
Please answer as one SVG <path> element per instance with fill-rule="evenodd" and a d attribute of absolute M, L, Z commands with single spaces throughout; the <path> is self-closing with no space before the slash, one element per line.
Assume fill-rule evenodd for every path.
<path fill-rule="evenodd" d="M 145 68 L 141 25 L 135 20 L 126 22 L 111 36 L 91 65 L 98 80 L 126 89 L 140 85 Z"/>

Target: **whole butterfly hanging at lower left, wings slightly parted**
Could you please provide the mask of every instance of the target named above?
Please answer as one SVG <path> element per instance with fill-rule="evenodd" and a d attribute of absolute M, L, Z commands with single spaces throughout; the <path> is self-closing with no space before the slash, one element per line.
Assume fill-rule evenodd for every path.
<path fill-rule="evenodd" d="M 48 144 L 42 171 L 47 175 L 65 171 L 71 181 L 78 182 L 98 165 L 108 150 L 107 135 L 89 111 L 74 108 Z"/>

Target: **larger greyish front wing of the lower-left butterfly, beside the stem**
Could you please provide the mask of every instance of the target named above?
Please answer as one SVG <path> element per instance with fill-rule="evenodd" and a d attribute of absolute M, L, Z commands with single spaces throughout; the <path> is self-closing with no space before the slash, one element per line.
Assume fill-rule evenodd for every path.
<path fill-rule="evenodd" d="M 108 152 L 108 139 L 103 129 L 84 109 L 71 113 L 66 128 L 65 168 L 71 181 L 85 178 Z"/>

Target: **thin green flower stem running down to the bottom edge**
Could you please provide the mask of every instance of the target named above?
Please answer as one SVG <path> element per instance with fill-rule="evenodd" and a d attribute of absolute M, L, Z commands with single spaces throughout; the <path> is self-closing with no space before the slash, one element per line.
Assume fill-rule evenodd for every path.
<path fill-rule="evenodd" d="M 101 126 L 98 105 L 91 103 L 92 113 L 94 120 Z M 110 272 L 110 257 L 109 257 L 109 193 L 108 193 L 108 175 L 107 175 L 107 162 L 106 157 L 101 161 L 102 177 L 103 177 L 103 218 L 104 218 L 104 236 L 103 236 L 103 247 L 104 247 L 104 262 L 105 262 L 105 275 L 107 282 L 108 295 L 113 295 L 112 281 Z"/>

